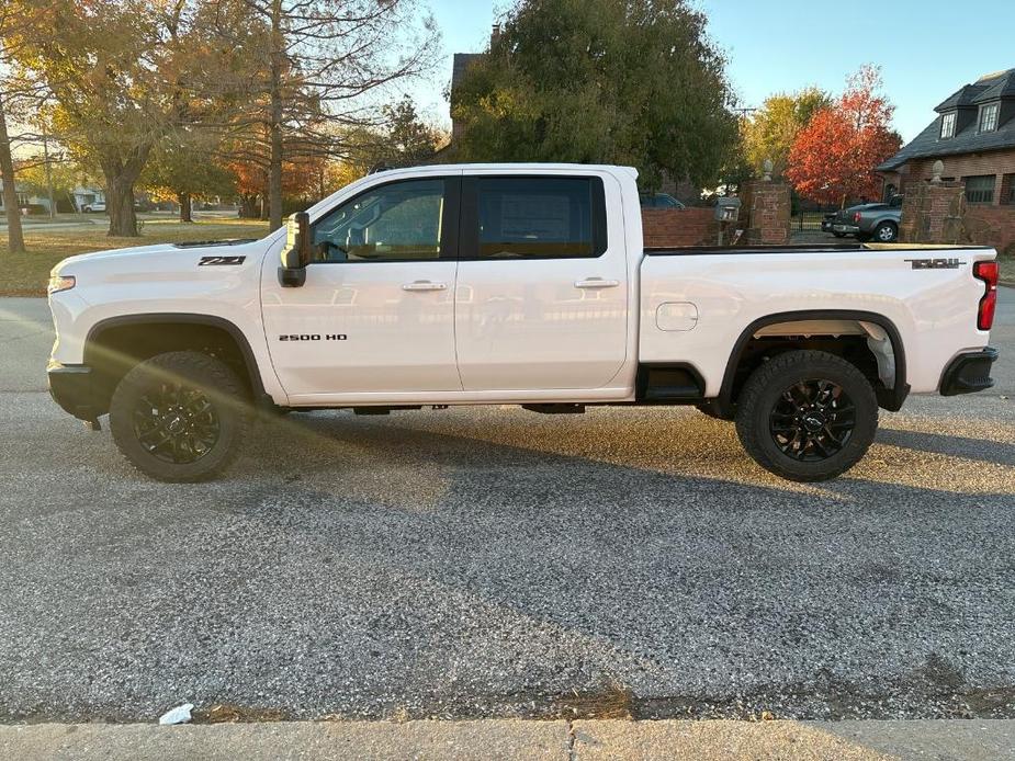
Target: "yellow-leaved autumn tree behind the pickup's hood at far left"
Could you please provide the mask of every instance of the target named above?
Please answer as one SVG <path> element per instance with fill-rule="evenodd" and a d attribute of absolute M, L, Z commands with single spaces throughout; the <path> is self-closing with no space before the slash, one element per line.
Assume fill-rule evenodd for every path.
<path fill-rule="evenodd" d="M 12 59 L 45 87 L 49 134 L 98 167 L 111 236 L 136 236 L 134 188 L 156 144 L 193 123 L 221 52 L 196 0 L 7 0 Z M 207 11 L 204 11 L 207 12 Z"/>

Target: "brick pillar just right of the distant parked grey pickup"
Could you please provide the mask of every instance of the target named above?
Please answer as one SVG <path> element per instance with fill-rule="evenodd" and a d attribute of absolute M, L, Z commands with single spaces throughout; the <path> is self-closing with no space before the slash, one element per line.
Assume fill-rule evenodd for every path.
<path fill-rule="evenodd" d="M 899 240 L 904 243 L 962 243 L 966 230 L 966 183 L 911 182 L 902 202 Z"/>

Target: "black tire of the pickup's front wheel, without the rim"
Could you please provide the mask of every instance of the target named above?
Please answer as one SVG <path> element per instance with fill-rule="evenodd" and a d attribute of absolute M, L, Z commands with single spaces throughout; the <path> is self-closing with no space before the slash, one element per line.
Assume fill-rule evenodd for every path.
<path fill-rule="evenodd" d="M 217 438 L 193 462 L 167 462 L 138 438 L 136 413 L 146 395 L 166 382 L 200 394 L 211 405 Z M 137 470 L 171 484 L 203 481 L 224 470 L 236 457 L 251 419 L 244 384 L 224 362 L 192 351 L 158 354 L 133 367 L 116 386 L 110 404 L 110 431 L 117 448 Z"/>

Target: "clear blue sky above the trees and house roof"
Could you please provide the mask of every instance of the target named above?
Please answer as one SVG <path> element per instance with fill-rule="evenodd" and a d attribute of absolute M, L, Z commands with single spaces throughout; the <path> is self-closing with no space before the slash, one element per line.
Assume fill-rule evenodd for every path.
<path fill-rule="evenodd" d="M 410 88 L 430 118 L 450 125 L 442 92 L 451 79 L 451 55 L 482 50 L 509 4 L 430 0 L 443 57 L 431 81 Z M 1015 0 L 693 0 L 693 5 L 706 13 L 709 35 L 729 58 L 726 72 L 743 106 L 811 84 L 838 93 L 849 73 L 876 64 L 905 141 L 961 86 L 1015 67 Z"/>

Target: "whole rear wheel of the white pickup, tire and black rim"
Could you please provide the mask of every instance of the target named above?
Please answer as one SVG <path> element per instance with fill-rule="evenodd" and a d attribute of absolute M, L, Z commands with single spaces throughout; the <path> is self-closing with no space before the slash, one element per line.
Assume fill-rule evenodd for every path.
<path fill-rule="evenodd" d="M 792 351 L 758 367 L 741 391 L 736 434 L 763 468 L 794 481 L 845 473 L 878 429 L 873 388 L 854 365 L 820 351 Z"/>

